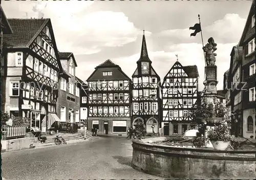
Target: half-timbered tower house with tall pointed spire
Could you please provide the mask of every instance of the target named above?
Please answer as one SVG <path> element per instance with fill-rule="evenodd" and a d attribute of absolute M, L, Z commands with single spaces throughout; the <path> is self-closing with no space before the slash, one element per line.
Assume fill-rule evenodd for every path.
<path fill-rule="evenodd" d="M 148 57 L 143 31 L 141 54 L 132 75 L 132 125 L 143 123 L 147 133 L 159 133 L 161 117 L 160 77 Z M 153 125 L 153 126 L 152 126 Z"/>

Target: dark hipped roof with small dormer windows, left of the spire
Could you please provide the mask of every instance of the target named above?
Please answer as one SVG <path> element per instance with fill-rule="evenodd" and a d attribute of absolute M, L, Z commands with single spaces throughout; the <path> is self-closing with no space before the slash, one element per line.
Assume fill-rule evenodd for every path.
<path fill-rule="evenodd" d="M 112 75 L 103 75 L 103 72 L 112 71 Z M 129 80 L 129 76 L 127 76 L 120 66 L 113 63 L 111 60 L 106 60 L 102 64 L 95 67 L 94 72 L 89 76 L 87 79 L 88 81 L 98 81 L 98 80 L 104 80 L 104 81 L 110 81 L 110 80 Z"/>

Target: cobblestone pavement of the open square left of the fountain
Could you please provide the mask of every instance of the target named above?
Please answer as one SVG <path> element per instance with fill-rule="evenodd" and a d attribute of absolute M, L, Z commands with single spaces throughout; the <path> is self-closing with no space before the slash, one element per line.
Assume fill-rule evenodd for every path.
<path fill-rule="evenodd" d="M 2 177 L 39 179 L 160 179 L 131 167 L 132 142 L 121 137 L 2 153 Z"/>

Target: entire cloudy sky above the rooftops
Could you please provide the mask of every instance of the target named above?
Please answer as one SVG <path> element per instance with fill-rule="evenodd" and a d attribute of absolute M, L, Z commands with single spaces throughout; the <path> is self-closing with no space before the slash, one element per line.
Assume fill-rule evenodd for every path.
<path fill-rule="evenodd" d="M 252 1 L 2 1 L 7 18 L 51 18 L 59 52 L 74 53 L 76 76 L 86 81 L 110 59 L 132 79 L 140 58 L 143 30 L 148 56 L 163 81 L 177 61 L 197 65 L 204 88 L 201 34 L 190 37 L 199 22 L 204 45 L 217 43 L 218 90 L 239 43 Z"/>

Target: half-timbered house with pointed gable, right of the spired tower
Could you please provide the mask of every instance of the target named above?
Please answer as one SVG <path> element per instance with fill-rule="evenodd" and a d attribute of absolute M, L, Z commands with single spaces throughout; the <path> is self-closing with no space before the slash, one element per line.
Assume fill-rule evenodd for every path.
<path fill-rule="evenodd" d="M 182 134 L 196 122 L 190 117 L 198 99 L 198 69 L 177 60 L 162 84 L 163 135 Z"/>

